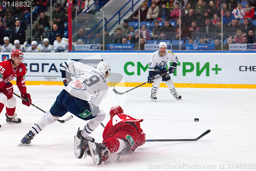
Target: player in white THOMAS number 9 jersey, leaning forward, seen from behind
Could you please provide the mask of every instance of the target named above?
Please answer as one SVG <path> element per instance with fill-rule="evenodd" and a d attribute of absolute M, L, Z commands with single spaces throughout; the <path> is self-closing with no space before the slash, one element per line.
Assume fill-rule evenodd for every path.
<path fill-rule="evenodd" d="M 80 62 L 67 61 L 61 65 L 62 78 L 67 77 L 66 72 L 75 75 L 75 79 L 66 84 L 67 87 L 59 93 L 50 111 L 32 126 L 29 133 L 21 140 L 22 143 L 30 144 L 35 135 L 67 112 L 71 112 L 80 119 L 90 120 L 81 131 L 78 128 L 76 135 L 78 139 L 75 143 L 79 144 L 81 138 L 94 141 L 94 138 L 88 135 L 105 118 L 104 111 L 100 110 L 98 105 L 108 93 L 109 86 L 106 78 L 111 74 L 110 64 L 100 62 L 96 69 Z"/>

